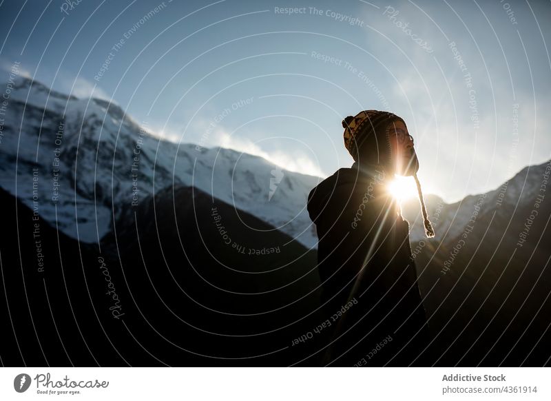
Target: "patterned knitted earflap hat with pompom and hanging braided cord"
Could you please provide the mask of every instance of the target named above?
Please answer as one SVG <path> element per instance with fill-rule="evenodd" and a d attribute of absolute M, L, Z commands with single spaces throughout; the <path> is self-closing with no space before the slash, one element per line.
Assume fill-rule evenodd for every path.
<path fill-rule="evenodd" d="M 391 141 L 388 132 L 393 127 L 394 121 L 406 122 L 401 117 L 391 112 L 382 112 L 379 110 L 364 110 L 355 116 L 347 116 L 342 120 L 344 128 L 344 147 L 349 151 L 354 161 L 358 161 L 360 155 L 366 160 L 377 161 L 377 164 L 391 165 Z M 421 190 L 421 184 L 417 173 L 413 174 L 419 202 L 423 214 L 425 234 L 427 238 L 435 236 L 433 225 L 428 220 L 425 202 Z"/>

